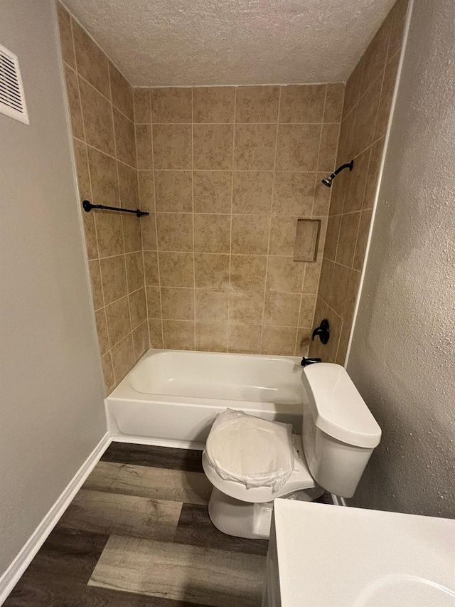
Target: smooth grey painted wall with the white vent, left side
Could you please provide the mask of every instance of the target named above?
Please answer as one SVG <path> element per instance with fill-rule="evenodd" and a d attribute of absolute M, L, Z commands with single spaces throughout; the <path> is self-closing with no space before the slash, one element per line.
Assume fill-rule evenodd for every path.
<path fill-rule="evenodd" d="M 30 125 L 0 115 L 0 578 L 106 432 L 54 11 L 1 2 Z"/>

